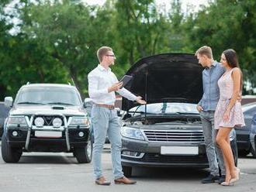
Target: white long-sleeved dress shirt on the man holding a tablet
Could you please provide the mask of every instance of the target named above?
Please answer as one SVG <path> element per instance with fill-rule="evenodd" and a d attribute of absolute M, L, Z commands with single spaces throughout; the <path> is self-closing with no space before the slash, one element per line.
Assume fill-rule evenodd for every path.
<path fill-rule="evenodd" d="M 116 101 L 115 91 L 109 93 L 108 87 L 116 84 L 119 81 L 111 69 L 106 69 L 100 64 L 88 74 L 88 93 L 95 104 L 114 105 Z M 130 101 L 137 99 L 136 95 L 126 90 L 124 87 L 116 91 L 124 98 Z"/>

